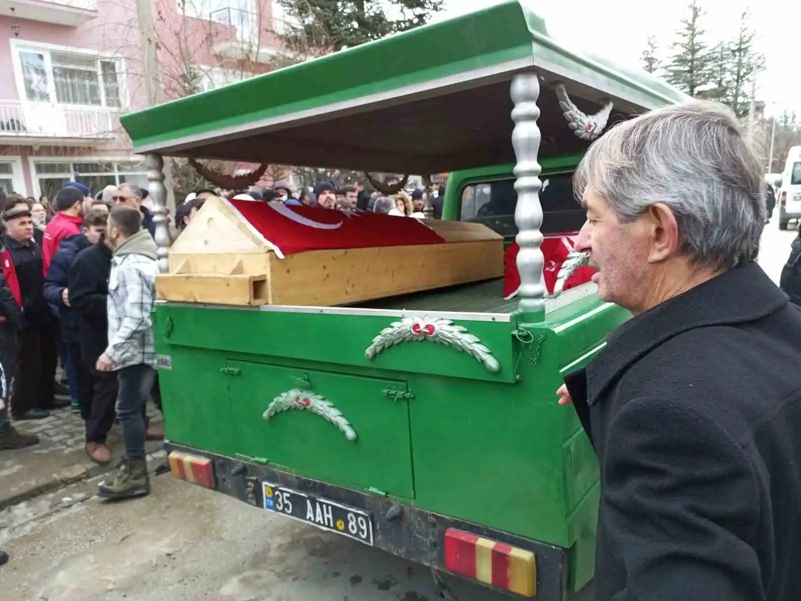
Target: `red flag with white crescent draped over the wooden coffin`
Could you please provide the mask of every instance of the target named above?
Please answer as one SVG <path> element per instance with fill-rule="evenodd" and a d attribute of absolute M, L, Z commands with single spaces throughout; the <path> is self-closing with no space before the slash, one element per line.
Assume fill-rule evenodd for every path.
<path fill-rule="evenodd" d="M 252 200 L 227 202 L 278 249 L 280 256 L 312 250 L 445 242 L 433 229 L 411 218 Z"/>

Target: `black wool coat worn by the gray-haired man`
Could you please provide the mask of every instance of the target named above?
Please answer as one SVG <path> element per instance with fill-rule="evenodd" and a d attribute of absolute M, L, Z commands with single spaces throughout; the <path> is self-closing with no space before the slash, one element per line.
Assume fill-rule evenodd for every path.
<path fill-rule="evenodd" d="M 627 321 L 566 384 L 600 467 L 598 601 L 801 599 L 801 309 L 757 264 Z"/>

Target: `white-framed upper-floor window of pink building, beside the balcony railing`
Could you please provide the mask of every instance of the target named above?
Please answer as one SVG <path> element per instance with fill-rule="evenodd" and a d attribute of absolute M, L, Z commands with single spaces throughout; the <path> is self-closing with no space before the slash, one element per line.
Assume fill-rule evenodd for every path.
<path fill-rule="evenodd" d="M 121 107 L 114 58 L 50 50 L 19 50 L 26 99 L 57 104 Z"/>

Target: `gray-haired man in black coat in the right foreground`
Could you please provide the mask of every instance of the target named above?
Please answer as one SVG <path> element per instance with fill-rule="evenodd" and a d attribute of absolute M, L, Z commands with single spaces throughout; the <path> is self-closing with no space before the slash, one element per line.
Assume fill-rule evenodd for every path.
<path fill-rule="evenodd" d="M 801 599 L 801 312 L 755 263 L 762 165 L 728 109 L 587 151 L 577 248 L 634 317 L 557 390 L 598 455 L 598 601 Z"/>

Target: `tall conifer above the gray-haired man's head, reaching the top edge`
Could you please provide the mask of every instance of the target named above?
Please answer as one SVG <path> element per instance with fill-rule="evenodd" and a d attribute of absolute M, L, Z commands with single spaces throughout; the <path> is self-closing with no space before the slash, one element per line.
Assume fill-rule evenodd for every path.
<path fill-rule="evenodd" d="M 673 44 L 673 56 L 666 67 L 667 81 L 689 94 L 697 96 L 709 83 L 710 50 L 704 40 L 706 31 L 701 28 L 704 11 L 693 0 L 687 6 L 682 27 L 676 32 L 678 40 Z"/>

